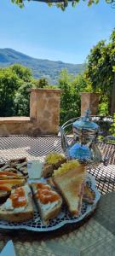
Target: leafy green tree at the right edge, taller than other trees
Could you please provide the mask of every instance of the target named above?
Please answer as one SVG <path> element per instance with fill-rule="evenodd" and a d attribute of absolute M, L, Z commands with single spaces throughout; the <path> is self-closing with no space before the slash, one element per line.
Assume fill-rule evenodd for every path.
<path fill-rule="evenodd" d="M 112 32 L 110 42 L 101 41 L 90 50 L 88 55 L 86 79 L 93 91 L 98 91 L 106 96 L 111 113 L 115 111 L 115 29 Z"/>

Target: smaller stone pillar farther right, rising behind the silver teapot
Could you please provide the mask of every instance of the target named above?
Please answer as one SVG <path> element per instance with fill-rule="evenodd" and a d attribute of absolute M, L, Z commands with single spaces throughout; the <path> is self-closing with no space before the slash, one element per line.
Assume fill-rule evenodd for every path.
<path fill-rule="evenodd" d="M 99 93 L 93 92 L 82 92 L 81 95 L 81 116 L 84 115 L 84 111 L 89 108 L 91 111 L 91 115 L 96 115 L 98 111 Z"/>

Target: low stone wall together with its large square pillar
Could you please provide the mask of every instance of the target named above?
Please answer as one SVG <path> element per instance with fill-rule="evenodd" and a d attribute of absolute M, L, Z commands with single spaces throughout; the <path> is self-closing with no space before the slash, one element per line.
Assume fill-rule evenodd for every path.
<path fill-rule="evenodd" d="M 0 135 L 39 135 L 58 133 L 60 94 L 56 89 L 31 89 L 30 117 L 0 118 Z"/>

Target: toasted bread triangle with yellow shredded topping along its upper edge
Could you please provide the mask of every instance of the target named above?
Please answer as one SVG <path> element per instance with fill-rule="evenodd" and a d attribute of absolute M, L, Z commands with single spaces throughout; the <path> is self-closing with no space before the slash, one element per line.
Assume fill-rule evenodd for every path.
<path fill-rule="evenodd" d="M 85 166 L 77 160 L 63 164 L 55 171 L 53 181 L 66 201 L 69 212 L 78 215 L 82 206 Z"/>

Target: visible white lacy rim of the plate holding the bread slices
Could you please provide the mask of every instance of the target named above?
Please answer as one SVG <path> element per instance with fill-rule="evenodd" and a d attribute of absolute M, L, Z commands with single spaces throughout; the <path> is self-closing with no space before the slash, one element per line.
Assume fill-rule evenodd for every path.
<path fill-rule="evenodd" d="M 99 191 L 95 188 L 95 177 L 88 174 L 86 177 L 86 183 L 89 185 L 89 188 L 92 189 L 95 192 L 95 201 L 92 205 L 89 205 L 86 202 L 83 202 L 81 213 L 78 217 L 72 217 L 70 213 L 67 210 L 66 206 L 63 206 L 61 208 L 61 211 L 57 218 L 53 218 L 49 221 L 49 224 L 43 225 L 40 215 L 38 212 L 34 212 L 34 218 L 31 220 L 28 220 L 23 223 L 9 223 L 7 221 L 0 220 L 0 229 L 7 229 L 7 230 L 32 230 L 32 231 L 38 231 L 38 232 L 44 232 L 44 231 L 51 231 L 51 230 L 57 230 L 60 227 L 64 226 L 65 224 L 73 224 L 80 222 L 83 218 L 86 218 L 94 212 L 95 207 L 97 205 L 97 202 L 100 200 L 101 194 Z"/>

